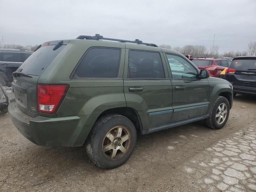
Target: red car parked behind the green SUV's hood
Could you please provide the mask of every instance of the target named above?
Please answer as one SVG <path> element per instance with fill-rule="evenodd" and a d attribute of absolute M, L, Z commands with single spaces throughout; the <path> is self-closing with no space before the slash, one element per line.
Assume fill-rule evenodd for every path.
<path fill-rule="evenodd" d="M 220 77 L 220 73 L 231 63 L 230 60 L 224 58 L 194 58 L 192 62 L 200 70 L 207 69 L 211 77 Z"/>

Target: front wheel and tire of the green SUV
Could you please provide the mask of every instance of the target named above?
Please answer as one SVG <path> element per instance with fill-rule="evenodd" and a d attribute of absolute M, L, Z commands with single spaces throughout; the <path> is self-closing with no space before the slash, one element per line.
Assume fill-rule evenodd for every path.
<path fill-rule="evenodd" d="M 223 106 L 224 106 L 224 110 L 222 108 Z M 225 111 L 226 113 L 224 113 Z M 228 120 L 229 112 L 230 112 L 230 105 L 227 98 L 219 96 L 216 102 L 214 103 L 212 111 L 210 112 L 210 116 L 205 120 L 206 126 L 212 129 L 221 129 Z"/>

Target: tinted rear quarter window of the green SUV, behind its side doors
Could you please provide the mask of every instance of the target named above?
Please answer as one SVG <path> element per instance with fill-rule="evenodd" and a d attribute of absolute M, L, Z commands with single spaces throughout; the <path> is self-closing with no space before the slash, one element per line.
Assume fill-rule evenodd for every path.
<path fill-rule="evenodd" d="M 117 78 L 120 49 L 91 48 L 82 58 L 74 78 Z"/>

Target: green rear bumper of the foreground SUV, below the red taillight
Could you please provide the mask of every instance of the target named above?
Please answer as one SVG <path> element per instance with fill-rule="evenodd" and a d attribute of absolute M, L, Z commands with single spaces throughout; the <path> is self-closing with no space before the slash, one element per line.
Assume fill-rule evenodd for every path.
<path fill-rule="evenodd" d="M 18 131 L 41 146 L 82 146 L 91 129 L 91 124 L 86 123 L 90 116 L 32 118 L 16 108 L 15 102 L 9 104 L 8 110 Z"/>

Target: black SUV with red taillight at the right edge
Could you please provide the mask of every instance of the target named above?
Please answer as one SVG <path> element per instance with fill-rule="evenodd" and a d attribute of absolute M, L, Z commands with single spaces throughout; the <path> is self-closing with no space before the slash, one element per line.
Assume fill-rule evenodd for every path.
<path fill-rule="evenodd" d="M 234 95 L 256 95 L 256 56 L 240 56 L 232 60 L 225 79 L 233 84 Z"/>

